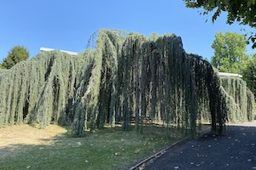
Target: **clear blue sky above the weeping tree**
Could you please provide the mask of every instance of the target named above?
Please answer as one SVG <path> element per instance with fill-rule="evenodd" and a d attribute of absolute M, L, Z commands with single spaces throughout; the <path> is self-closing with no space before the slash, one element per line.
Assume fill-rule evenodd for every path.
<path fill-rule="evenodd" d="M 152 32 L 174 33 L 182 37 L 186 52 L 211 59 L 217 31 L 255 31 L 226 25 L 224 14 L 212 25 L 211 16 L 197 11 L 186 8 L 182 0 L 0 0 L 0 61 L 15 45 L 25 46 L 31 58 L 41 47 L 81 52 L 100 28 L 147 37 Z M 254 52 L 247 46 L 247 54 Z"/>

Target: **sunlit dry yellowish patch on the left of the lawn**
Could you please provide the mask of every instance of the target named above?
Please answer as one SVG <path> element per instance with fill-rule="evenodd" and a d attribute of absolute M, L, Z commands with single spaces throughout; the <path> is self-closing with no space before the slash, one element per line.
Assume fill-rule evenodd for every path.
<path fill-rule="evenodd" d="M 44 129 L 26 124 L 2 127 L 0 128 L 0 158 L 15 156 L 27 150 L 28 147 L 20 147 L 20 145 L 53 144 L 54 138 L 61 137 L 65 133 L 67 129 L 57 125 L 49 125 Z"/>

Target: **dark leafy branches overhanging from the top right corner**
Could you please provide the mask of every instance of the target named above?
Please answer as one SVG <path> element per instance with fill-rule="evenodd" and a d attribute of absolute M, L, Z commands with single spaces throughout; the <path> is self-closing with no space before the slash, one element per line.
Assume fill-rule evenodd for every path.
<path fill-rule="evenodd" d="M 213 12 L 212 22 L 214 22 L 221 12 L 227 12 L 227 23 L 233 24 L 237 21 L 240 25 L 256 28 L 256 1 L 255 0 L 183 0 L 188 8 L 203 8 L 205 11 L 201 14 Z M 256 48 L 256 33 L 251 32 L 249 37 L 253 42 L 253 48 Z"/>

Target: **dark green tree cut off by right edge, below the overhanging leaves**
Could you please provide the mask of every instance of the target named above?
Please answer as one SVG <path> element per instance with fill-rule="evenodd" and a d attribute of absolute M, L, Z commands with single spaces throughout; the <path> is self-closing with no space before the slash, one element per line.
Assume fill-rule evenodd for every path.
<path fill-rule="evenodd" d="M 253 94 L 256 94 L 256 53 L 252 54 L 250 62 L 243 71 L 243 79 L 247 82 L 247 87 L 250 88 Z"/>

